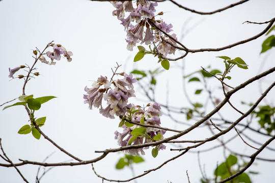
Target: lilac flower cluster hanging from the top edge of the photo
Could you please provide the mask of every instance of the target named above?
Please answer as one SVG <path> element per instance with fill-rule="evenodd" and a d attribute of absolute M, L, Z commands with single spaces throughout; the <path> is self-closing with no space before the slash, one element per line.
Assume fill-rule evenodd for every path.
<path fill-rule="evenodd" d="M 145 43 L 146 45 L 155 43 L 159 53 L 164 56 L 175 53 L 174 46 L 176 46 L 176 42 L 161 32 L 170 33 L 173 31 L 171 29 L 173 25 L 167 24 L 163 20 L 155 20 L 156 2 L 137 1 L 136 8 L 133 8 L 132 1 L 114 1 L 111 3 L 116 8 L 113 11 L 113 15 L 117 16 L 127 32 L 126 42 L 128 43 L 128 50 L 132 51 L 135 44 L 141 42 L 141 44 Z M 127 17 L 125 16 L 126 12 L 129 13 Z M 163 12 L 160 12 L 157 15 L 162 14 Z M 135 24 L 132 24 L 133 22 Z M 161 31 L 154 27 L 151 22 L 154 22 Z M 146 30 L 144 31 L 145 28 Z M 177 40 L 175 34 L 172 34 L 171 37 Z"/>

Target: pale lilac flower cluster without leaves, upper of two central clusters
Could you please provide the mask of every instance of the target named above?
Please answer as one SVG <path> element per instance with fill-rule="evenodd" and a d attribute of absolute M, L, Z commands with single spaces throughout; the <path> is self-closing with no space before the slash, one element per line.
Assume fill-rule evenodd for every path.
<path fill-rule="evenodd" d="M 133 83 L 136 79 L 132 78 L 132 74 L 127 75 L 121 73 L 124 76 L 123 79 L 117 79 L 108 81 L 107 77 L 100 76 L 97 81 L 92 84 L 92 88 L 85 87 L 84 103 L 88 103 L 90 109 L 92 107 L 99 108 L 100 113 L 109 118 L 115 118 L 117 116 L 124 116 L 129 97 L 135 97 L 133 90 Z M 113 84 L 114 88 L 111 88 Z M 103 88 L 100 88 L 103 85 Z M 105 93 L 105 94 L 104 94 Z M 102 107 L 102 99 L 107 101 L 107 106 Z"/>

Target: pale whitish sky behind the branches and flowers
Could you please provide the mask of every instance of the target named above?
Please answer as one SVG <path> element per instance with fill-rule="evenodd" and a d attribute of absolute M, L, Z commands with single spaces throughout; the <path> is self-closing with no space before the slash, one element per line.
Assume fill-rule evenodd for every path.
<path fill-rule="evenodd" d="M 182 5 L 198 11 L 212 11 L 223 8 L 237 1 L 178 1 Z M 275 2 L 272 0 L 256 1 L 251 0 L 235 8 L 226 10 L 214 15 L 197 15 L 178 9 L 169 2 L 159 3 L 157 12 L 166 12 L 161 18 L 167 23 L 173 24 L 178 39 L 184 34 L 182 43 L 191 49 L 216 48 L 235 43 L 239 40 L 250 38 L 260 33 L 266 24 L 242 24 L 244 21 L 264 22 L 275 17 Z M 100 75 L 112 76 L 111 68 L 116 62 L 122 64 L 121 72 L 130 72 L 133 69 L 154 70 L 159 67 L 157 59 L 146 55 L 138 63 L 133 63 L 133 57 L 137 52 L 126 50 L 126 33 L 120 21 L 112 16 L 114 7 L 108 2 L 90 2 L 75 0 L 58 1 L 0 1 L 0 82 L 1 97 L 3 104 L 22 94 L 23 80 L 10 80 L 8 68 L 15 68 L 20 65 L 32 65 L 32 50 L 38 47 L 43 50 L 46 44 L 52 40 L 62 44 L 68 51 L 73 52 L 72 62 L 67 63 L 65 59 L 57 62 L 56 66 L 48 66 L 38 63 L 36 67 L 41 74 L 32 79 L 26 86 L 26 94 L 33 94 L 34 97 L 56 96 L 48 103 L 42 105 L 37 112 L 38 117 L 47 116 L 42 131 L 51 139 L 65 148 L 71 154 L 83 160 L 94 159 L 98 154 L 95 150 L 118 147 L 114 139 L 114 132 L 119 124 L 118 119 L 107 119 L 99 114 L 97 109 L 89 110 L 88 105 L 83 104 L 82 96 L 85 94 L 84 87 L 91 87 L 93 81 Z M 260 55 L 261 44 L 265 37 L 259 38 L 246 45 L 224 50 L 221 52 L 203 52 L 188 54 L 185 58 L 186 72 L 190 73 L 200 69 L 200 66 L 223 69 L 223 62 L 215 56 L 226 55 L 231 58 L 241 57 L 249 70 L 235 68 L 232 70 L 232 80 L 228 84 L 236 86 L 246 79 L 255 76 L 274 64 L 274 50 Z M 274 49 L 274 48 L 273 48 Z M 177 62 L 182 65 L 182 61 Z M 19 73 L 18 74 L 23 74 Z M 256 97 L 273 80 L 275 75 L 268 76 L 261 82 L 261 85 L 253 84 L 240 91 L 231 102 L 241 110 L 248 109 L 240 105 L 240 101 L 254 102 Z M 170 104 L 174 106 L 186 106 L 187 101 L 182 97 L 181 70 L 177 65 L 171 64 L 171 70 L 163 72 L 157 78 L 156 100 L 165 103 L 167 87 L 170 89 Z M 219 83 L 212 80 L 211 84 Z M 187 85 L 188 94 L 192 96 L 197 85 Z M 135 85 L 136 88 L 137 85 Z M 274 89 L 268 94 L 266 102 L 274 104 Z M 222 98 L 222 93 L 216 91 L 216 97 Z M 138 99 L 145 99 L 139 90 L 136 90 Z M 194 101 L 204 101 L 205 95 L 199 99 L 192 96 Z M 139 105 L 147 104 L 148 101 L 133 100 Z M 185 105 L 186 103 L 186 105 Z M 264 104 L 264 103 L 263 103 Z M 17 131 L 28 122 L 28 115 L 22 106 L 15 106 L 0 112 L 0 138 L 6 154 L 14 162 L 18 159 L 30 161 L 43 161 L 46 156 L 54 153 L 47 162 L 63 162 L 70 160 L 70 157 L 50 144 L 41 137 L 36 140 L 31 134 L 20 135 Z M 227 119 L 235 120 L 239 115 L 230 109 L 222 112 Z M 209 109 L 210 111 L 211 109 Z M 179 117 L 182 121 L 182 116 Z M 186 126 L 174 124 L 168 117 L 162 116 L 164 127 L 184 129 Z M 245 122 L 245 121 L 244 121 Z M 257 127 L 257 125 L 255 125 Z M 205 134 L 204 134 L 205 133 Z M 234 134 L 234 132 L 232 132 Z M 167 133 L 167 136 L 172 133 Z M 207 137 L 209 132 L 195 131 L 184 139 L 202 139 Z M 253 133 L 250 134 L 253 137 Z M 258 138 L 258 137 L 257 137 Z M 264 142 L 266 139 L 257 139 Z M 235 144 L 236 143 L 236 144 Z M 215 143 L 212 143 L 214 145 Z M 239 144 L 239 145 L 237 145 Z M 231 143 L 235 149 L 241 149 L 240 153 L 251 155 L 255 149 L 243 144 L 239 139 Z M 270 147 L 274 147 L 272 142 Z M 210 147 L 203 146 L 203 150 Z M 177 152 L 167 150 L 160 151 L 157 158 L 151 157 L 151 148 L 146 150 L 146 163 L 134 166 L 135 175 L 143 171 L 159 166 L 163 161 L 176 156 Z M 95 163 L 94 166 L 99 174 L 111 179 L 128 179 L 131 171 L 129 168 L 116 170 L 115 163 L 123 154 L 109 154 L 104 160 Z M 274 151 L 264 150 L 259 157 L 274 159 Z M 201 155 L 201 164 L 205 165 L 205 171 L 209 177 L 213 176 L 213 170 L 218 163 L 224 161 L 223 150 L 217 149 L 215 153 L 208 152 Z M 246 159 L 248 161 L 248 159 Z M 0 160 L 4 163 L 3 160 Z M 210 164 L 211 163 L 211 164 Z M 275 175 L 274 164 L 258 161 L 249 170 L 260 171 L 259 175 L 252 175 L 253 182 L 271 182 Z M 22 174 L 30 182 L 35 182 L 38 166 L 27 165 L 19 167 Z M 200 182 L 202 177 L 199 172 L 197 154 L 189 153 L 176 161 L 170 162 L 156 172 L 137 179 L 137 182 L 188 182 L 185 174 L 188 170 L 191 183 Z M 0 182 L 23 182 L 22 178 L 14 168 L 0 167 Z M 46 173 L 42 182 L 102 182 L 92 171 L 91 165 L 74 167 L 57 167 Z M 133 181 L 132 181 L 133 182 Z"/>

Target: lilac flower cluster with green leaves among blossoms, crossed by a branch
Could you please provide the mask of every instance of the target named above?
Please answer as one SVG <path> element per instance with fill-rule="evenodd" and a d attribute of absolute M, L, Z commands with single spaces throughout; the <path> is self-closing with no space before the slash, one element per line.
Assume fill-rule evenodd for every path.
<path fill-rule="evenodd" d="M 131 120 L 134 123 L 143 124 L 143 125 L 150 125 L 155 127 L 160 127 L 160 116 L 162 115 L 160 111 L 160 106 L 158 103 L 150 103 L 147 106 L 148 109 L 145 110 L 141 108 L 140 106 L 133 106 L 130 104 L 128 107 L 132 107 L 131 109 L 137 112 L 134 112 L 132 115 L 130 115 L 129 111 L 126 113 L 126 116 L 128 116 L 128 120 Z M 130 118 L 129 118 L 130 117 Z M 127 119 L 127 118 L 126 118 Z M 125 119 L 124 119 L 125 120 Z M 126 145 L 137 145 L 137 144 L 144 144 L 149 143 L 154 140 L 156 140 L 154 137 L 157 135 L 159 138 L 157 140 L 163 138 L 163 134 L 166 133 L 165 130 L 161 130 L 158 128 L 152 128 L 147 127 L 143 128 L 139 125 L 133 125 L 133 124 L 124 124 L 121 126 L 123 128 L 123 132 L 119 133 L 118 131 L 115 132 L 115 139 L 118 140 L 118 144 L 120 146 L 126 146 Z M 136 135 L 135 133 L 132 133 L 134 129 L 141 129 L 139 132 L 140 135 Z M 144 129 L 144 131 L 142 131 Z M 144 155 L 143 149 L 146 149 L 149 147 L 144 148 L 135 148 L 135 149 L 128 149 L 125 153 L 131 154 L 133 156 L 137 155 L 140 156 L 140 153 Z M 157 149 L 165 149 L 166 146 L 163 144 L 159 144 L 157 146 Z"/>

